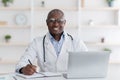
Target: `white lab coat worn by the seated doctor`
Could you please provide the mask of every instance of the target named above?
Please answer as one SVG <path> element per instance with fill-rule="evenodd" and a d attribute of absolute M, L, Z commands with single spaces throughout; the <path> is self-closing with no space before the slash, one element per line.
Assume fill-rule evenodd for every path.
<path fill-rule="evenodd" d="M 87 48 L 82 41 L 78 38 L 73 38 L 72 40 L 66 33 L 59 56 L 56 55 L 56 51 L 49 38 L 49 33 L 46 34 L 44 45 L 46 62 L 44 62 L 43 58 L 43 37 L 38 37 L 34 39 L 26 49 L 25 54 L 21 57 L 16 66 L 16 71 L 18 72 L 21 67 L 29 64 L 28 59 L 33 63 L 37 58 L 40 71 L 65 72 L 67 70 L 69 51 L 87 51 Z"/>

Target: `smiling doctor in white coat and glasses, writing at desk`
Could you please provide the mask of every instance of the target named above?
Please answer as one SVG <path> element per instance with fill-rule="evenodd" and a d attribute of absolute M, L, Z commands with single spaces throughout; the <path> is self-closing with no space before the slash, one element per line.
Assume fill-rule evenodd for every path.
<path fill-rule="evenodd" d="M 25 54 L 16 66 L 16 72 L 32 75 L 36 66 L 31 65 L 37 59 L 41 72 L 65 72 L 69 51 L 87 51 L 85 44 L 64 31 L 66 23 L 64 13 L 59 9 L 49 12 L 46 20 L 49 32 L 38 37 L 28 46 Z"/>

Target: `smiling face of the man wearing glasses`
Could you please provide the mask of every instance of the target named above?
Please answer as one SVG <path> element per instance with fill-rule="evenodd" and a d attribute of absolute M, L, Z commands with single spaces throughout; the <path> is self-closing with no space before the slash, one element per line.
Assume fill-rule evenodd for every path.
<path fill-rule="evenodd" d="M 48 30 L 53 35 L 59 35 L 63 32 L 65 26 L 65 19 L 61 13 L 50 14 L 46 20 Z"/>

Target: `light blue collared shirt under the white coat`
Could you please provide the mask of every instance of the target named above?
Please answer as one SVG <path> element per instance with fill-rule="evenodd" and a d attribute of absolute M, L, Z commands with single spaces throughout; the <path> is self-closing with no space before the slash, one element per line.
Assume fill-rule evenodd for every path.
<path fill-rule="evenodd" d="M 50 41 L 54 46 L 54 49 L 56 51 L 57 56 L 59 56 L 63 42 L 64 42 L 64 33 L 62 34 L 59 41 L 55 40 L 53 36 L 50 34 Z"/>

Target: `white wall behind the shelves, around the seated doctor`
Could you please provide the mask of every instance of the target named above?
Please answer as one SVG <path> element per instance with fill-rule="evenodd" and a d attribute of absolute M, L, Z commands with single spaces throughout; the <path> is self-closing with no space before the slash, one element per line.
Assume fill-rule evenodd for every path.
<path fill-rule="evenodd" d="M 23 7 L 23 8 L 40 8 L 42 0 L 34 0 L 34 7 L 31 6 L 31 0 L 14 0 L 14 4 L 11 7 Z M 48 12 L 53 8 L 62 9 L 66 15 L 66 26 L 65 30 L 73 36 L 80 35 L 80 38 L 85 42 L 100 42 L 101 37 L 105 37 L 105 42 L 109 43 L 120 43 L 120 11 L 116 10 L 78 10 L 80 7 L 81 0 L 45 0 L 45 7 L 38 10 L 2 10 L 0 9 L 0 21 L 7 21 L 8 27 L 10 25 L 16 25 L 15 17 L 17 14 L 24 14 L 27 17 L 27 23 L 24 26 L 30 26 L 28 28 L 6 28 L 0 27 L 0 43 L 4 43 L 4 35 L 11 34 L 11 43 L 20 43 L 23 45 L 0 45 L 0 66 L 1 63 L 11 62 L 13 65 L 19 60 L 21 55 L 24 53 L 25 48 L 31 38 L 37 36 L 43 36 L 47 32 L 46 17 Z M 54 2 L 54 3 L 53 3 Z M 78 3 L 79 2 L 79 3 Z M 0 7 L 3 5 L 0 2 Z M 107 4 L 104 0 L 85 0 L 85 8 L 104 8 Z M 75 9 L 74 9 L 75 8 Z M 31 11 L 33 19 L 31 19 Z M 89 20 L 94 21 L 96 27 L 92 28 L 88 25 Z M 33 21 L 33 26 L 31 26 Z M 114 25 L 118 28 L 103 28 L 102 26 Z M 88 26 L 84 28 L 84 26 Z M 21 27 L 21 26 L 17 26 Z M 91 46 L 87 45 L 89 50 L 102 50 L 103 48 L 110 48 L 112 50 L 111 61 L 120 62 L 120 45 L 115 46 Z M 7 56 L 6 56 L 7 55 Z M 6 64 L 5 64 L 6 66 Z M 13 71 L 13 69 L 11 70 Z"/>

